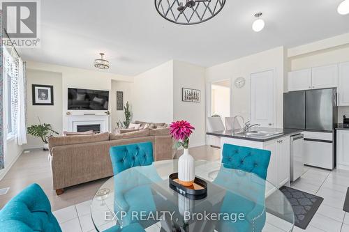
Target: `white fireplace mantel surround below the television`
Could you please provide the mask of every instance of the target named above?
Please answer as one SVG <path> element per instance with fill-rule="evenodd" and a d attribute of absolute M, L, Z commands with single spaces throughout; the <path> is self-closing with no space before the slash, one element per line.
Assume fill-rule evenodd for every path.
<path fill-rule="evenodd" d="M 68 115 L 66 116 L 66 118 L 67 118 L 66 120 L 67 123 L 66 123 L 66 128 L 64 128 L 64 131 L 77 132 L 78 125 L 95 125 L 95 124 L 101 125 L 101 133 L 110 131 L 109 115 L 82 114 L 82 115 Z"/>

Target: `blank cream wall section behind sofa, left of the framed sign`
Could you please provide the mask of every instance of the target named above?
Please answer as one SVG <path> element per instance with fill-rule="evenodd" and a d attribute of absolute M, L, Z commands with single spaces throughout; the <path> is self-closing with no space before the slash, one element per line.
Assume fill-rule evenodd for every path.
<path fill-rule="evenodd" d="M 133 121 L 171 123 L 173 119 L 173 61 L 134 77 Z"/>

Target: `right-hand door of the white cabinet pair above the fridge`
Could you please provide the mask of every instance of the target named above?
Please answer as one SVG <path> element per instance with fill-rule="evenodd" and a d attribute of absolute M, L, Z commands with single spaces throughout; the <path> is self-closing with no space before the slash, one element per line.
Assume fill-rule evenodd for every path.
<path fill-rule="evenodd" d="M 327 65 L 311 69 L 311 88 L 336 88 L 338 65 Z"/>

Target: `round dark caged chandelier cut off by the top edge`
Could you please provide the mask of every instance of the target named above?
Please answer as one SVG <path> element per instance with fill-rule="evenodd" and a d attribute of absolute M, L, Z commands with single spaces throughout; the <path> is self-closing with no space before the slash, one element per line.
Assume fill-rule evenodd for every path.
<path fill-rule="evenodd" d="M 200 24 L 223 9 L 226 0 L 155 0 L 158 13 L 175 24 Z"/>

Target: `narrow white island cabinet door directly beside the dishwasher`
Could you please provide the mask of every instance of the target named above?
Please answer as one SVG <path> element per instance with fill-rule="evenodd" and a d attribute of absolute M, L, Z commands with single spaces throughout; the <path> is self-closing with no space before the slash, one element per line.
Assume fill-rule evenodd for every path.
<path fill-rule="evenodd" d="M 290 180 L 290 137 L 279 141 L 278 178 L 279 186 L 285 185 Z"/>

